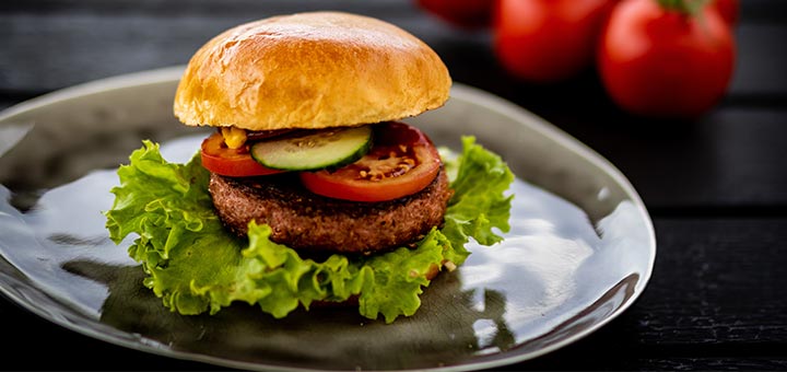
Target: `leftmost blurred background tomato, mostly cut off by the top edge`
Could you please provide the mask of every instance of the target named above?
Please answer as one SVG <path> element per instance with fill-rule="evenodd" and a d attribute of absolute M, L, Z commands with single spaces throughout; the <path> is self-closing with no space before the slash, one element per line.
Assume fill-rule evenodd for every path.
<path fill-rule="evenodd" d="M 491 23 L 493 0 L 418 0 L 421 8 L 448 23 L 463 27 L 485 27 Z"/>

